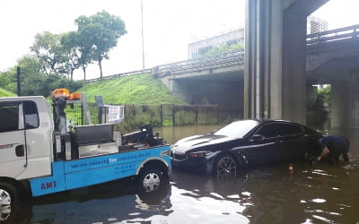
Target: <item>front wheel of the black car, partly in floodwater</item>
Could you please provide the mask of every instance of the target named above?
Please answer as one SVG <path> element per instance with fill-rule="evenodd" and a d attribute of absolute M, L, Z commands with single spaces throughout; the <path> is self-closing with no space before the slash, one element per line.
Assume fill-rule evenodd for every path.
<path fill-rule="evenodd" d="M 231 155 L 223 154 L 215 161 L 215 175 L 217 177 L 236 177 L 237 162 Z"/>

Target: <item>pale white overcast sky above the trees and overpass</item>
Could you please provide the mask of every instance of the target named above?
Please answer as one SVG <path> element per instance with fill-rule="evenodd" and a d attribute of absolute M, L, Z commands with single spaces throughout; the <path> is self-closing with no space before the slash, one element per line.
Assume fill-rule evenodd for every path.
<path fill-rule="evenodd" d="M 142 0 L 144 67 L 188 58 L 188 44 L 244 27 L 244 0 Z M 313 15 L 335 29 L 359 23 L 358 0 L 330 0 Z M 30 54 L 37 33 L 76 30 L 74 20 L 105 10 L 126 24 L 127 34 L 103 62 L 104 75 L 141 70 L 141 0 L 0 0 L 0 71 Z M 82 78 L 79 70 L 75 79 Z M 91 65 L 88 78 L 99 77 Z"/>

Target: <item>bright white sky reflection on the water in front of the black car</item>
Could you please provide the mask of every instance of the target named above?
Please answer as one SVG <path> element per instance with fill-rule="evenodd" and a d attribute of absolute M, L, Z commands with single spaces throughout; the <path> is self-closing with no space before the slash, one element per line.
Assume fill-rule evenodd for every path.
<path fill-rule="evenodd" d="M 169 218 L 178 220 L 182 217 L 183 223 L 249 222 L 243 215 L 246 207 L 239 202 L 245 177 L 223 181 L 175 172 L 172 181 L 171 202 L 174 212 Z"/>

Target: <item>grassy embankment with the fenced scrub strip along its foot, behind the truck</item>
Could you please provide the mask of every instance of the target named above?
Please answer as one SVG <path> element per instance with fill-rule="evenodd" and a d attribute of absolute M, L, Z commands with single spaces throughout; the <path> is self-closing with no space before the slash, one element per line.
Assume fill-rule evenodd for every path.
<path fill-rule="evenodd" d="M 138 130 L 147 123 L 153 126 L 213 125 L 218 121 L 217 108 L 187 105 L 149 73 L 88 83 L 77 92 L 83 92 L 89 103 L 95 102 L 94 96 L 102 96 L 105 104 L 125 105 L 125 120 L 115 126 L 122 133 Z M 161 106 L 165 104 L 175 106 Z M 96 119 L 96 109 L 91 113 Z"/>

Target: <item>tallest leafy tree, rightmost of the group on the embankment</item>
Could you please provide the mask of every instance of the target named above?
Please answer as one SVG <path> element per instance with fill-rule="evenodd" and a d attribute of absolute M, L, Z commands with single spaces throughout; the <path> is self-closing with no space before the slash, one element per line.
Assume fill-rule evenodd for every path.
<path fill-rule="evenodd" d="M 102 60 L 109 59 L 109 50 L 117 46 L 118 38 L 126 34 L 125 23 L 120 17 L 105 11 L 90 17 L 84 15 L 75 20 L 81 38 L 81 51 L 98 62 L 102 79 Z M 84 39 L 86 38 L 86 39 Z"/>

